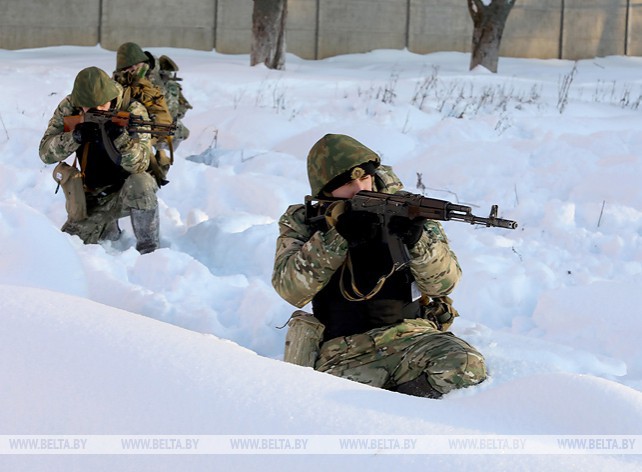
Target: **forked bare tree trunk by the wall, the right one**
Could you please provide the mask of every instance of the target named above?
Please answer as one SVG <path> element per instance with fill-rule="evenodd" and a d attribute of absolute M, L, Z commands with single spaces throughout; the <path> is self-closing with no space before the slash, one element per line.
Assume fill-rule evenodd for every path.
<path fill-rule="evenodd" d="M 497 72 L 504 26 L 515 1 L 468 0 L 468 12 L 473 19 L 471 70 L 482 65 L 491 72 Z"/>

